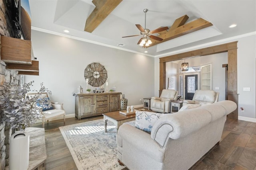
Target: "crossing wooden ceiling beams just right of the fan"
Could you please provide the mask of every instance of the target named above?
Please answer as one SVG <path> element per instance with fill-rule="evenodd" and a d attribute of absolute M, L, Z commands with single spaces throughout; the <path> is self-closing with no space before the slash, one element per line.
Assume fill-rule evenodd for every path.
<path fill-rule="evenodd" d="M 212 26 L 212 23 L 210 23 L 202 18 L 199 18 L 199 19 L 191 21 L 185 25 L 182 25 L 182 23 L 186 22 L 185 20 L 187 20 L 186 15 L 175 20 L 174 25 L 172 26 L 173 29 L 170 29 L 169 31 L 163 31 L 158 36 L 158 37 L 162 38 L 163 40 L 156 41 L 154 39 L 151 39 L 152 44 L 150 44 L 150 46 L 148 46 L 148 47 L 152 47 L 153 45 L 157 45 L 157 44 L 163 43 L 165 41 L 169 41 L 171 39 L 180 37 L 182 35 L 186 35 L 188 33 L 192 33 L 192 32 L 198 31 L 200 29 L 204 29 L 206 27 Z M 181 25 L 181 26 L 177 27 L 178 25 Z"/>

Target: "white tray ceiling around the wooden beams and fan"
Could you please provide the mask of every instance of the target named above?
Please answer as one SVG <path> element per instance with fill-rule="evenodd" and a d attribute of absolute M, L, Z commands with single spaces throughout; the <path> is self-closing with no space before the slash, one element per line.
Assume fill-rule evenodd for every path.
<path fill-rule="evenodd" d="M 92 33 L 84 31 L 86 19 L 95 8 L 92 0 L 29 0 L 29 3 L 34 30 L 152 57 L 256 31 L 256 0 L 123 0 Z M 150 30 L 170 27 L 185 14 L 189 17 L 186 23 L 203 18 L 213 26 L 149 47 L 148 53 L 144 53 L 145 49 L 137 45 L 140 36 L 122 37 L 140 34 L 135 24 L 145 26 L 145 8 L 148 9 L 146 28 Z M 237 26 L 229 28 L 234 23 Z M 70 32 L 64 33 L 65 29 Z M 120 43 L 124 46 L 117 46 Z"/>

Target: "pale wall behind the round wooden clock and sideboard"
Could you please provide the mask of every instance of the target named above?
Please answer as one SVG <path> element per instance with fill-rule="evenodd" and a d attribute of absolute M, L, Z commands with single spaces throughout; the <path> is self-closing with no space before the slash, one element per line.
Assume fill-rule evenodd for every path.
<path fill-rule="evenodd" d="M 154 58 L 66 37 L 32 30 L 32 47 L 39 61 L 39 76 L 25 76 L 34 80 L 31 90 L 40 83 L 52 91 L 53 102 L 64 104 L 66 114 L 75 113 L 78 86 L 86 90 L 84 69 L 90 63 L 100 63 L 108 71 L 108 89 L 116 86 L 125 94 L 128 106 L 140 105 L 140 99 L 154 95 Z M 152 75 L 152 76 L 150 76 Z M 94 89 L 94 87 L 89 86 Z"/>

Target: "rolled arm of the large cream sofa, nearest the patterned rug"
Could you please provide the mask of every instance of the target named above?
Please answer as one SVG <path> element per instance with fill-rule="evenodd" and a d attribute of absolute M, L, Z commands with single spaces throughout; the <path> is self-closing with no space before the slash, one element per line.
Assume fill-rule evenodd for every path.
<path fill-rule="evenodd" d="M 151 139 L 150 134 L 124 123 L 118 129 L 118 137 L 122 138 L 122 141 L 126 141 L 126 143 L 133 145 L 138 152 L 144 152 L 154 160 L 163 162 L 164 149 L 162 149 L 154 140 Z"/>

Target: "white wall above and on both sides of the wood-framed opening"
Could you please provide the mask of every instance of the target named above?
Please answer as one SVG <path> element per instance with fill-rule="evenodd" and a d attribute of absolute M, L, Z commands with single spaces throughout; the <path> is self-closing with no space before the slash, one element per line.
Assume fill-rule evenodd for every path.
<path fill-rule="evenodd" d="M 237 49 L 237 78 L 238 78 L 238 115 L 240 117 L 256 118 L 256 35 L 254 33 L 240 35 L 238 37 L 231 37 L 228 40 L 218 41 L 210 45 L 202 45 L 200 47 L 194 47 L 194 49 L 200 49 L 205 47 L 211 47 L 214 45 L 220 45 L 224 43 L 230 43 L 238 41 Z M 192 51 L 184 49 L 184 51 L 173 52 L 170 55 Z M 155 91 L 154 95 L 159 94 L 159 58 L 155 58 Z M 187 61 L 187 59 L 186 59 Z M 217 70 L 216 70 L 217 71 Z M 217 72 L 216 72 L 217 74 Z M 213 85 L 213 87 L 218 86 Z M 243 87 L 249 87 L 250 92 L 244 92 Z M 240 111 L 240 107 L 244 107 L 244 112 Z M 247 119 L 245 119 L 247 120 Z M 251 119 L 248 119 L 251 121 Z M 256 121 L 253 119 L 252 121 Z"/>

